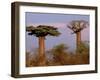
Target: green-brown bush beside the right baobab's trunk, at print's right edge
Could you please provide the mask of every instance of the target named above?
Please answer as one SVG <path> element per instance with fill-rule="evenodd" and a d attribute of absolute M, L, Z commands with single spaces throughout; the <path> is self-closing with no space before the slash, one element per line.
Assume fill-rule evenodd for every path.
<path fill-rule="evenodd" d="M 79 64 L 89 63 L 89 43 L 81 42 L 77 49 L 76 60 Z"/>

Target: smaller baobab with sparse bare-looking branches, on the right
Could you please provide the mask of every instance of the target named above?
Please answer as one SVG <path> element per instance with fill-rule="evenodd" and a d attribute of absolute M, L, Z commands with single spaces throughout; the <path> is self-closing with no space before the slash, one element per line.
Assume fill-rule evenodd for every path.
<path fill-rule="evenodd" d="M 70 22 L 70 24 L 68 25 L 68 28 L 71 29 L 73 31 L 72 34 L 76 34 L 76 45 L 77 45 L 77 49 L 78 46 L 81 43 L 81 31 L 86 28 L 88 25 L 88 22 L 85 20 L 73 20 Z"/>

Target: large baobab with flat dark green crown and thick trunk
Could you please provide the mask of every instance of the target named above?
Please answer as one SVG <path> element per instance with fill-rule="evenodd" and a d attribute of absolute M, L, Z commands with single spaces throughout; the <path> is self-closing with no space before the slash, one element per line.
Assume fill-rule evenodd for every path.
<path fill-rule="evenodd" d="M 46 36 L 59 36 L 60 32 L 54 26 L 47 25 L 39 25 L 39 26 L 28 26 L 26 27 L 26 31 L 28 31 L 28 35 L 34 35 L 38 37 L 39 41 L 39 59 L 38 65 L 44 66 L 46 65 L 45 59 L 45 38 Z"/>

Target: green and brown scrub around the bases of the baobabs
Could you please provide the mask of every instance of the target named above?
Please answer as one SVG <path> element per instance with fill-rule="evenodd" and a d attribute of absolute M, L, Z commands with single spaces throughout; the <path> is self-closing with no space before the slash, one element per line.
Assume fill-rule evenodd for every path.
<path fill-rule="evenodd" d="M 63 43 L 54 46 L 52 49 L 46 51 L 45 66 L 89 64 L 89 44 L 87 42 L 81 42 L 79 46 L 76 53 L 69 52 L 68 46 Z M 27 54 L 30 55 L 30 53 Z M 30 60 L 27 57 L 27 67 L 39 66 L 37 65 L 37 56 L 31 55 L 29 57 Z"/>

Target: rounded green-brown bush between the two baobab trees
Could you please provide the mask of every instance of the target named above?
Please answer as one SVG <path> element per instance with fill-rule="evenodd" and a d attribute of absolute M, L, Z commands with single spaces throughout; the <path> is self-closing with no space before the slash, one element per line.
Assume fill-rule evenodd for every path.
<path fill-rule="evenodd" d="M 51 53 L 53 54 L 54 65 L 67 64 L 67 59 L 68 59 L 67 49 L 68 49 L 68 46 L 66 46 L 63 43 L 58 44 L 51 49 Z"/>

